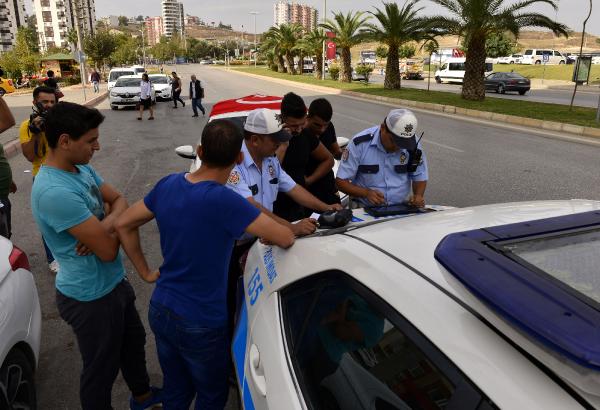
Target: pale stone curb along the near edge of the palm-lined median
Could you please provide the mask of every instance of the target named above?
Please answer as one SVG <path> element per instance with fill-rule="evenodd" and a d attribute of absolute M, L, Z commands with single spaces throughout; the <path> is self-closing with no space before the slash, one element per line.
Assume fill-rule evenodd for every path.
<path fill-rule="evenodd" d="M 536 130 L 544 129 L 544 130 L 548 130 L 548 131 L 565 132 L 565 133 L 575 135 L 578 137 L 600 138 L 600 128 L 584 127 L 582 125 L 567 124 L 567 123 L 555 122 L 555 121 L 544 121 L 544 120 L 538 120 L 535 118 L 518 117 L 516 115 L 497 114 L 497 113 L 494 113 L 491 111 L 472 110 L 469 108 L 455 107 L 453 105 L 424 103 L 424 102 L 420 102 L 420 101 L 403 100 L 400 98 L 383 97 L 383 96 L 379 96 L 379 95 L 369 96 L 369 94 L 359 93 L 356 91 L 346 91 L 346 90 L 339 90 L 337 88 L 330 88 L 330 87 L 325 87 L 325 86 L 320 86 L 320 85 L 299 83 L 299 82 L 292 81 L 292 80 L 284 80 L 281 78 L 267 77 L 267 76 L 262 76 L 262 75 L 258 75 L 258 74 L 245 73 L 243 71 L 237 71 L 237 70 L 228 70 L 228 71 L 232 71 L 232 72 L 235 72 L 235 73 L 238 73 L 241 75 L 250 76 L 253 78 L 260 78 L 262 80 L 272 81 L 272 82 L 279 83 L 279 84 L 293 85 L 294 87 L 303 88 L 306 90 L 320 91 L 320 92 L 324 92 L 327 94 L 345 95 L 345 96 L 355 97 L 355 98 L 359 98 L 359 99 L 363 99 L 363 100 L 375 100 L 375 101 L 385 102 L 385 103 L 390 103 L 390 104 L 401 104 L 406 107 L 414 107 L 414 108 L 418 108 L 418 109 L 425 110 L 425 111 L 431 111 L 433 113 L 458 114 L 458 115 L 462 115 L 465 117 L 477 118 L 480 120 L 495 121 L 495 122 L 504 123 L 504 124 L 512 124 L 512 125 L 519 125 L 519 126 L 534 128 Z"/>

